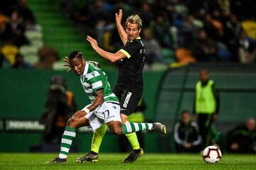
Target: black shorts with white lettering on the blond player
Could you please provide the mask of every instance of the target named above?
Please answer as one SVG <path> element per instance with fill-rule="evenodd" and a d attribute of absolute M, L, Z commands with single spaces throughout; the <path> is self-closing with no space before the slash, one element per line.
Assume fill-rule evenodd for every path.
<path fill-rule="evenodd" d="M 120 113 L 127 116 L 131 115 L 135 111 L 139 100 L 142 98 L 142 90 L 135 91 L 114 86 L 113 92 L 119 99 L 121 108 Z"/>

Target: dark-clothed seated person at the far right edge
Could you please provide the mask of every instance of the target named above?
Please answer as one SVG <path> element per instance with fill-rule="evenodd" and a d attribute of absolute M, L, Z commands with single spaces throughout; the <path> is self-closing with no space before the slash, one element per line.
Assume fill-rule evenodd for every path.
<path fill-rule="evenodd" d="M 249 118 L 245 125 L 238 125 L 230 130 L 228 136 L 228 151 L 237 153 L 256 153 L 256 123 Z"/>

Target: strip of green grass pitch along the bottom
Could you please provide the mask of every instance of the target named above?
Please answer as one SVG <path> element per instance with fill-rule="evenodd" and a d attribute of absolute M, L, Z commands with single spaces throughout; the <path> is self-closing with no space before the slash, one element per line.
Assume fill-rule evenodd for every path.
<path fill-rule="evenodd" d="M 74 160 L 82 154 L 70 154 L 67 164 L 44 164 L 57 154 L 0 153 L 0 169 L 256 169 L 255 154 L 224 154 L 218 164 L 206 164 L 200 154 L 145 154 L 133 164 L 122 164 L 127 154 L 100 154 L 97 163 L 78 164 Z"/>

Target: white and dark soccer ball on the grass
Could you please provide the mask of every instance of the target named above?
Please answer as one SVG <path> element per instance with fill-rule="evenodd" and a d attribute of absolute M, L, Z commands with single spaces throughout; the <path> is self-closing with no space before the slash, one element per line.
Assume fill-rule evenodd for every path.
<path fill-rule="evenodd" d="M 221 159 L 221 152 L 218 147 L 215 146 L 209 146 L 206 147 L 206 149 L 203 150 L 203 160 L 207 164 L 215 164 L 220 161 Z"/>

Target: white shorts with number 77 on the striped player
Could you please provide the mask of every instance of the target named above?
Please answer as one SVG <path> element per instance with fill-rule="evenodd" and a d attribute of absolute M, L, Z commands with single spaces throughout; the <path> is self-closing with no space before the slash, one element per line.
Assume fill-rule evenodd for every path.
<path fill-rule="evenodd" d="M 89 120 L 92 130 L 96 130 L 110 121 L 119 121 L 122 123 L 119 103 L 112 101 L 105 101 L 94 111 L 85 115 L 85 118 Z"/>

